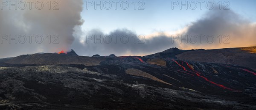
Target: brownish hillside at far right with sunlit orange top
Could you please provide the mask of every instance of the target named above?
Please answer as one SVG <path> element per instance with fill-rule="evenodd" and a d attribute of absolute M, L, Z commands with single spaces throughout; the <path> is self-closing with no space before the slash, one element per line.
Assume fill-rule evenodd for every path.
<path fill-rule="evenodd" d="M 180 60 L 231 64 L 256 70 L 256 47 L 195 50 L 175 56 Z"/>

